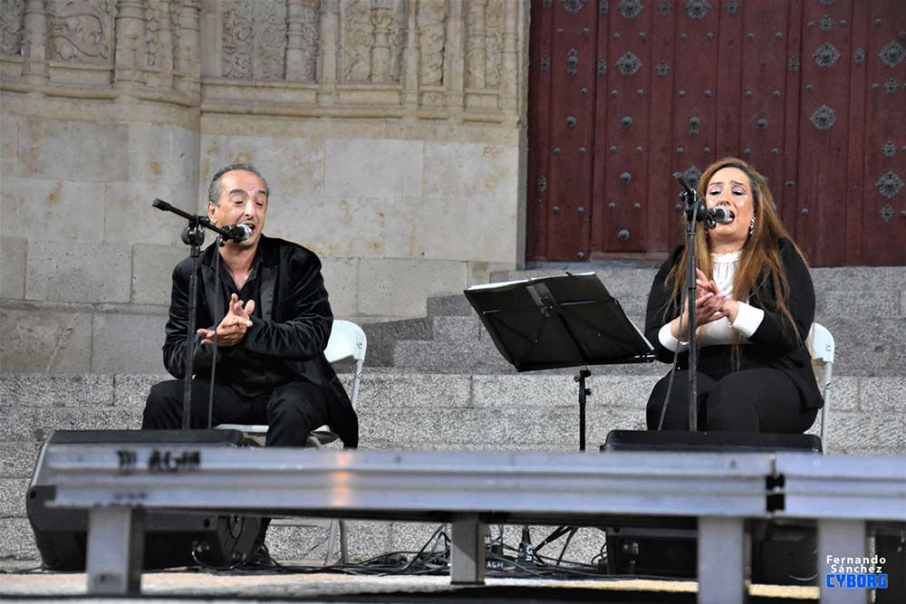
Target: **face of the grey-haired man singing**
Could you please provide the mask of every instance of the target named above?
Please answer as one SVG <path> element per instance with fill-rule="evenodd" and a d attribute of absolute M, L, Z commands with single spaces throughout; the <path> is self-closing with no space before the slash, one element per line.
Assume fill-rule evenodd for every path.
<path fill-rule="evenodd" d="M 215 226 L 249 225 L 252 236 L 240 247 L 254 247 L 265 228 L 267 187 L 265 181 L 246 170 L 232 170 L 220 177 L 220 205 L 207 204 L 207 217 Z"/>

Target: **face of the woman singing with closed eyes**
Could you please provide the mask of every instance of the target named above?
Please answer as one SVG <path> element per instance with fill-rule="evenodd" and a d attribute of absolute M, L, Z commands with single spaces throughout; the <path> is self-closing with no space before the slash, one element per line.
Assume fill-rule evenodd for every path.
<path fill-rule="evenodd" d="M 708 181 L 705 188 L 705 203 L 708 209 L 727 206 L 732 220 L 715 225 L 711 229 L 711 242 L 715 244 L 742 244 L 748 238 L 748 227 L 755 216 L 755 197 L 752 183 L 745 172 L 728 166 L 720 168 Z"/>

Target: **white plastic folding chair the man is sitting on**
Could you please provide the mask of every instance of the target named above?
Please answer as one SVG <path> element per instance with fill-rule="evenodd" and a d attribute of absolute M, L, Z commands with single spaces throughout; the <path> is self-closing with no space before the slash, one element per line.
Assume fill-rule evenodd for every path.
<path fill-rule="evenodd" d="M 324 349 L 324 357 L 330 363 L 340 360 L 354 359 L 355 369 L 352 373 L 352 408 L 355 408 L 359 399 L 359 385 L 361 384 L 362 366 L 365 363 L 365 351 L 368 348 L 368 340 L 365 338 L 365 332 L 361 327 L 352 321 L 343 321 L 334 319 L 331 328 L 331 337 L 327 340 L 327 348 Z M 251 424 L 220 424 L 218 430 L 238 430 L 246 436 L 246 440 L 255 443 L 257 446 L 265 446 L 267 436 L 267 426 Z M 316 448 L 328 443 L 332 443 L 338 436 L 329 426 L 318 427 L 308 435 L 308 444 Z M 340 532 L 340 560 L 343 564 L 349 561 L 349 551 L 346 547 L 346 523 L 341 521 L 326 521 L 328 523 L 327 536 L 327 556 L 325 563 L 333 560 L 333 551 L 336 545 L 337 529 Z M 276 518 L 271 523 L 272 526 L 324 526 L 324 521 L 315 519 L 305 519 L 300 521 L 297 518 Z"/>

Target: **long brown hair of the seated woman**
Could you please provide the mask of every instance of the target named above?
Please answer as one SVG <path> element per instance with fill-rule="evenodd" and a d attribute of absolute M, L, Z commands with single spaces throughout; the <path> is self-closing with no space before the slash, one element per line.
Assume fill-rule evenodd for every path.
<path fill-rule="evenodd" d="M 793 315 L 786 305 L 786 298 L 789 295 L 789 281 L 786 278 L 786 269 L 780 254 L 780 239 L 784 237 L 789 239 L 795 248 L 796 254 L 803 258 L 803 262 L 805 262 L 805 256 L 793 240 L 790 239 L 790 236 L 786 233 L 786 228 L 780 222 L 780 216 L 777 216 L 774 204 L 774 197 L 767 187 L 765 177 L 742 159 L 718 159 L 718 161 L 708 166 L 701 178 L 699 178 L 699 196 L 702 199 L 705 198 L 705 191 L 708 188 L 711 177 L 721 168 L 739 168 L 746 173 L 750 183 L 749 190 L 752 193 L 752 200 L 755 205 L 755 230 L 752 235 L 749 235 L 746 243 L 743 244 L 739 266 L 733 274 L 733 299 L 741 302 L 748 300 L 765 279 L 771 279 L 776 293 L 776 310 L 786 317 L 789 325 L 795 325 Z M 680 292 L 683 291 L 683 282 L 686 277 L 685 267 L 688 258 L 689 250 L 684 247 L 682 254 L 679 256 L 679 263 L 674 264 L 673 268 L 670 269 L 667 283 L 671 283 L 672 296 L 670 297 L 671 302 L 668 302 L 667 308 L 664 309 L 665 319 L 670 319 L 667 315 L 670 313 L 672 301 L 677 300 Z M 695 260 L 701 272 L 707 274 L 708 279 L 712 278 L 713 268 L 711 265 L 710 245 L 704 228 L 699 229 L 695 235 Z M 759 302 L 764 304 L 771 301 Z M 799 337 L 799 340 L 802 340 L 802 338 Z M 738 359 L 736 348 L 734 346 L 733 356 Z"/>

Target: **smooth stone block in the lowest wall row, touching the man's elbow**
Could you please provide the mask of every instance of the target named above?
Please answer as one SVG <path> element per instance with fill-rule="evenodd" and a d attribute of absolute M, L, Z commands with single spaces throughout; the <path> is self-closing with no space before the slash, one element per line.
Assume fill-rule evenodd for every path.
<path fill-rule="evenodd" d="M 166 314 L 97 312 L 92 336 L 92 371 L 161 373 Z"/>

